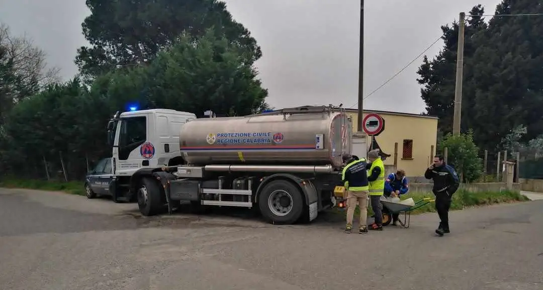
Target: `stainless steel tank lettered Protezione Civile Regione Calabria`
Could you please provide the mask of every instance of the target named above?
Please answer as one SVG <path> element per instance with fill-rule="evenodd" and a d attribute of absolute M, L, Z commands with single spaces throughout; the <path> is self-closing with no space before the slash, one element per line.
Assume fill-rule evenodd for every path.
<path fill-rule="evenodd" d="M 203 118 L 182 126 L 179 143 L 184 159 L 192 165 L 340 167 L 342 155 L 351 153 L 352 123 L 344 111 L 331 108 Z"/>

